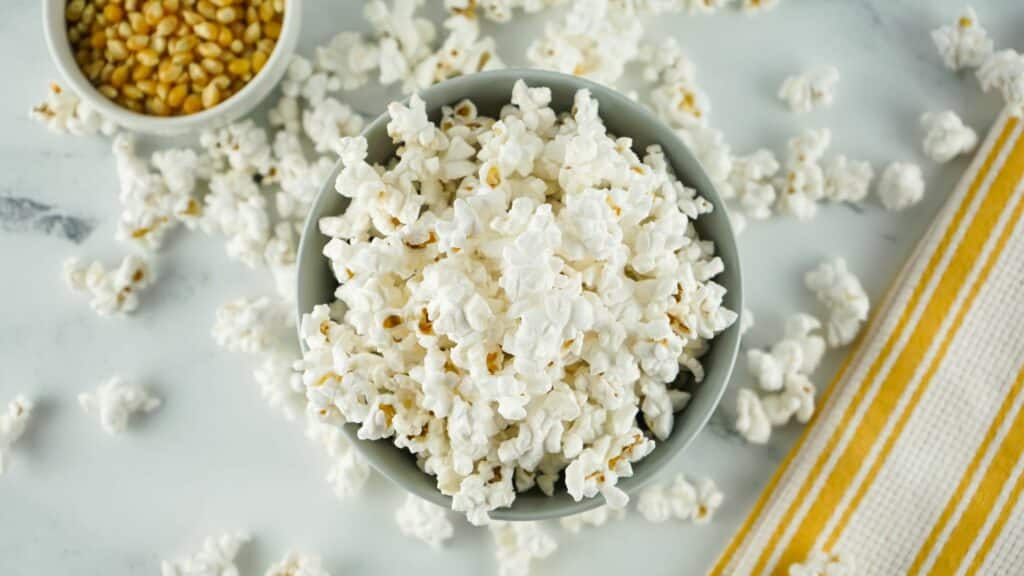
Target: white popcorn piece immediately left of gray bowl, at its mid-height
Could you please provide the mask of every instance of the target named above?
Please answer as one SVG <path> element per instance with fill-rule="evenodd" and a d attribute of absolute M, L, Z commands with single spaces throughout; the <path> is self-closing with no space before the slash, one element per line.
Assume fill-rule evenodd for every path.
<path fill-rule="evenodd" d="M 274 329 L 287 318 L 279 304 L 267 297 L 239 298 L 217 308 L 210 334 L 217 345 L 228 352 L 266 352 L 275 337 Z"/>

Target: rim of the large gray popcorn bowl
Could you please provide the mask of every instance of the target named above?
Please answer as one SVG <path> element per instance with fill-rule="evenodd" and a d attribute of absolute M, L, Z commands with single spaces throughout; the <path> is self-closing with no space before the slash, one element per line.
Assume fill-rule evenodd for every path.
<path fill-rule="evenodd" d="M 724 362 L 724 366 L 720 368 L 721 383 L 718 384 L 715 389 L 707 389 L 707 387 L 700 388 L 701 394 L 714 395 L 714 398 L 710 401 L 710 404 L 702 412 L 694 413 L 694 411 L 691 410 L 688 406 L 687 408 L 684 408 L 682 412 L 677 413 L 677 414 L 687 413 L 690 418 L 697 418 L 697 422 L 687 438 L 684 438 L 681 441 L 677 441 L 675 445 L 671 446 L 672 454 L 669 454 L 667 457 L 660 460 L 648 462 L 647 465 L 642 468 L 644 470 L 642 475 L 634 472 L 634 476 L 628 479 L 623 479 L 623 482 L 628 484 L 628 486 L 625 487 L 624 490 L 626 490 L 627 493 L 636 494 L 646 484 L 648 484 L 655 477 L 657 477 L 658 472 L 660 472 L 662 469 L 664 469 L 665 466 L 668 465 L 670 461 L 672 461 L 681 452 L 683 452 L 696 439 L 699 433 L 707 426 L 708 421 L 711 419 L 718 405 L 721 403 L 722 397 L 724 396 L 725 390 L 728 387 L 729 381 L 732 376 L 732 371 L 735 367 L 736 358 L 739 353 L 740 338 L 738 331 L 743 315 L 742 271 L 740 265 L 741 262 L 739 260 L 739 253 L 736 246 L 735 233 L 733 231 L 731 222 L 729 221 L 729 218 L 724 213 L 725 204 L 721 199 L 721 196 L 718 194 L 717 189 L 714 187 L 714 183 L 708 177 L 703 166 L 699 163 L 696 157 L 692 155 L 689 148 L 676 135 L 675 130 L 669 127 L 667 124 L 665 124 L 665 122 L 658 119 L 646 107 L 629 98 L 628 96 L 622 94 L 621 92 L 616 91 L 613 88 L 577 76 L 565 75 L 547 70 L 528 69 L 528 68 L 509 68 L 509 69 L 485 71 L 476 74 L 460 76 L 451 80 L 446 80 L 444 82 L 440 82 L 438 84 L 434 84 L 424 90 L 419 90 L 417 93 L 421 97 L 424 97 L 424 99 L 428 99 L 430 96 L 437 94 L 439 92 L 462 91 L 462 93 L 460 93 L 459 95 L 452 96 L 451 98 L 449 98 L 450 99 L 449 104 L 452 104 L 462 98 L 472 99 L 472 94 L 470 92 L 476 90 L 480 84 L 486 83 L 488 80 L 492 79 L 502 80 L 502 81 L 507 81 L 509 79 L 522 79 L 527 83 L 527 85 L 531 87 L 546 86 L 552 80 L 556 80 L 559 82 L 567 82 L 569 84 L 573 84 L 575 90 L 586 88 L 590 90 L 591 94 L 593 94 L 595 97 L 598 94 L 600 94 L 600 97 L 603 99 L 613 100 L 618 105 L 630 109 L 630 111 L 633 114 L 638 114 L 647 124 L 654 127 L 655 133 L 651 139 L 655 140 L 658 145 L 662 146 L 662 149 L 665 152 L 666 158 L 669 161 L 670 165 L 675 164 L 673 160 L 674 158 L 676 158 L 678 153 L 682 153 L 683 155 L 688 155 L 689 158 L 693 160 L 693 164 L 697 167 L 697 170 L 699 172 L 695 174 L 686 173 L 685 176 L 679 175 L 680 179 L 684 179 L 685 177 L 685 179 L 688 180 L 686 184 L 688 188 L 697 189 L 698 194 L 706 200 L 711 202 L 715 206 L 716 210 L 723 211 L 722 214 L 723 218 L 721 219 L 721 221 L 723 222 L 724 229 L 720 229 L 722 230 L 722 234 L 720 235 L 723 237 L 722 238 L 715 237 L 712 240 L 714 240 L 715 243 L 716 255 L 720 256 L 723 259 L 723 261 L 732 262 L 733 264 L 731 273 L 734 278 L 732 279 L 731 283 L 728 286 L 725 286 L 725 288 L 727 289 L 727 297 L 733 299 L 732 305 L 735 307 L 734 312 L 736 313 L 736 320 L 732 326 L 730 326 L 722 333 L 718 334 L 714 339 L 714 341 L 719 342 L 719 345 L 727 345 L 729 342 L 731 342 L 731 345 L 729 345 L 729 348 L 726 351 L 727 362 Z M 408 105 L 409 99 L 411 97 L 412 95 L 408 95 L 400 99 L 396 99 L 394 101 L 399 101 Z M 428 114 L 433 114 L 433 112 L 436 109 L 440 108 L 440 106 L 446 106 L 446 105 L 431 107 L 428 104 L 428 111 L 427 111 Z M 369 137 L 369 135 L 381 131 L 382 127 L 386 126 L 390 118 L 388 116 L 387 111 L 385 110 L 371 123 L 369 123 L 360 131 L 359 135 L 362 137 Z M 615 134 L 615 135 L 622 136 L 623 134 Z M 674 150 L 670 151 L 669 150 L 670 148 Z M 297 251 L 297 274 L 296 274 L 296 288 L 297 288 L 296 328 L 299 339 L 299 345 L 302 351 L 306 349 L 306 345 L 305 342 L 302 340 L 302 334 L 301 334 L 302 316 L 307 312 L 309 312 L 309 310 L 311 310 L 311 307 L 309 310 L 304 310 L 304 307 L 306 306 L 304 305 L 305 302 L 303 302 L 303 297 L 302 297 L 303 288 L 305 284 L 304 279 L 309 276 L 308 274 L 304 274 L 304 270 L 307 269 L 308 265 L 304 265 L 307 258 L 303 257 L 303 255 L 309 249 L 307 245 L 310 242 L 316 242 L 322 240 L 317 238 L 317 236 L 322 236 L 317 223 L 319 218 L 327 215 L 333 215 L 333 214 L 322 214 L 321 211 L 322 211 L 322 206 L 325 203 L 325 199 L 330 197 L 330 195 L 332 194 L 336 194 L 334 182 L 340 168 L 341 168 L 341 160 L 339 159 L 338 162 L 335 164 L 335 167 L 332 170 L 330 176 L 328 176 L 327 180 L 323 183 L 319 192 L 316 195 L 316 198 L 313 200 L 313 203 L 310 206 L 309 212 L 307 213 L 306 218 L 303 222 L 302 235 L 299 240 L 299 247 Z M 707 240 L 708 238 L 705 239 Z M 319 250 L 317 250 L 317 255 L 318 255 L 317 259 L 321 261 L 321 263 L 323 263 L 324 256 Z M 314 302 L 312 305 L 316 305 L 317 303 L 330 303 L 330 302 Z M 725 337 L 729 333 L 732 333 L 732 335 L 728 338 Z M 706 386 L 706 384 L 701 384 L 701 386 Z M 690 401 L 690 406 L 692 406 L 692 404 L 693 404 L 693 399 L 691 399 Z M 677 424 L 679 420 L 677 419 Z M 420 485 L 410 483 L 403 480 L 401 478 L 401 475 L 397 472 L 396 469 L 393 470 L 390 466 L 379 465 L 379 462 L 376 460 L 376 458 L 372 456 L 367 446 L 367 444 L 369 444 L 370 442 L 361 440 L 357 437 L 356 429 L 358 428 L 358 426 L 356 424 L 346 423 L 339 427 L 342 429 L 345 436 L 351 441 L 353 447 L 367 459 L 370 465 L 373 466 L 373 468 L 377 470 L 378 474 L 388 479 L 390 482 L 400 486 L 402 489 L 404 489 L 410 493 L 413 493 L 439 506 L 451 508 L 452 497 L 442 494 L 439 490 L 437 490 L 435 486 L 429 489 L 422 489 Z M 677 430 L 674 429 L 673 434 L 677 434 Z M 384 439 L 383 441 L 380 442 L 384 442 L 387 440 L 388 439 Z M 658 442 L 654 450 L 658 450 L 658 448 L 660 448 L 664 444 L 666 443 Z M 408 451 L 394 447 L 393 445 L 392 448 L 394 448 L 395 450 L 401 450 L 402 452 L 406 452 L 406 454 L 409 454 Z M 646 460 L 647 458 L 644 458 L 640 460 L 638 464 Z M 432 475 L 428 475 L 427 472 L 423 472 L 422 470 L 421 474 L 431 479 L 434 478 Z M 552 501 L 554 502 L 554 500 Z M 489 512 L 489 517 L 494 520 L 499 520 L 499 521 L 551 520 L 551 519 L 582 513 L 591 510 L 593 508 L 596 508 L 602 504 L 604 504 L 604 498 L 600 494 L 592 498 L 584 498 L 580 501 L 571 501 L 570 503 L 562 505 L 560 507 L 544 506 L 540 510 L 532 510 L 532 511 L 517 510 L 515 508 L 515 504 L 513 503 L 512 506 L 492 510 Z"/>

